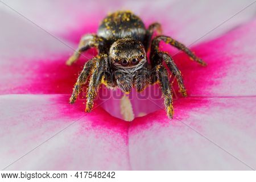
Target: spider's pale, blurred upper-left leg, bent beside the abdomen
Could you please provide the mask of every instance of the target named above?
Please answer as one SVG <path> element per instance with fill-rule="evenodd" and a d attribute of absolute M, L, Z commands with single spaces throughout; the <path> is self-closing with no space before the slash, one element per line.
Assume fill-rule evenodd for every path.
<path fill-rule="evenodd" d="M 95 34 L 87 34 L 82 36 L 79 47 L 73 53 L 71 57 L 67 60 L 67 65 L 72 65 L 79 59 L 82 52 L 88 50 L 89 48 L 96 47 L 98 49 L 98 55 L 101 53 L 105 53 L 104 50 L 104 39 L 95 35 Z"/>

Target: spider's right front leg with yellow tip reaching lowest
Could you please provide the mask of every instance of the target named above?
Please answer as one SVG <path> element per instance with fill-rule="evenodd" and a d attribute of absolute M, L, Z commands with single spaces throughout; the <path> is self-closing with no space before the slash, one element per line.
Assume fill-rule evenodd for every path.
<path fill-rule="evenodd" d="M 162 95 L 164 97 L 164 106 L 167 111 L 167 115 L 170 119 L 174 115 L 174 107 L 172 106 L 172 89 L 170 86 L 170 81 L 166 68 L 162 64 L 156 65 L 152 68 L 150 84 L 154 84 L 156 81 L 159 82 L 160 88 L 162 90 Z"/>

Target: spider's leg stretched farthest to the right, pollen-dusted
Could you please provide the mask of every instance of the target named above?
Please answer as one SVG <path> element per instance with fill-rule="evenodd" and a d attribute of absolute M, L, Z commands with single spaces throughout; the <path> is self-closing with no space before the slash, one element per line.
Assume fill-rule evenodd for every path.
<path fill-rule="evenodd" d="M 174 46 L 177 49 L 180 49 L 181 51 L 185 52 L 192 60 L 196 61 L 197 63 L 199 63 L 203 66 L 207 65 L 207 63 L 205 63 L 202 59 L 197 57 L 190 49 L 185 47 L 184 44 L 177 42 L 177 40 L 170 38 L 170 36 L 164 36 L 164 35 L 156 36 L 154 38 L 155 46 L 159 47 L 160 40 L 163 40 L 165 43 L 170 44 L 171 46 Z"/>

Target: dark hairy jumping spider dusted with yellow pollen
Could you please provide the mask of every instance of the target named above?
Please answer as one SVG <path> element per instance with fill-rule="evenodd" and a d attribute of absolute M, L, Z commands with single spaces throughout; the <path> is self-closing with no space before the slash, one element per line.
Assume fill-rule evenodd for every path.
<path fill-rule="evenodd" d="M 155 31 L 158 36 L 152 39 Z M 94 99 L 101 84 L 110 88 L 118 86 L 127 94 L 132 87 L 141 92 L 148 84 L 152 85 L 158 82 L 168 117 L 172 118 L 174 111 L 172 89 L 163 61 L 172 75 L 176 77 L 180 93 L 183 96 L 187 96 L 187 93 L 183 78 L 174 60 L 167 52 L 159 50 L 160 41 L 163 40 L 165 43 L 184 51 L 192 60 L 201 65 L 206 65 L 206 63 L 183 44 L 169 36 L 161 35 L 161 32 L 159 23 L 150 24 L 146 29 L 142 20 L 130 11 L 118 11 L 106 16 L 98 28 L 97 35 L 86 34 L 82 36 L 79 47 L 67 61 L 67 64 L 71 65 L 79 58 L 81 52 L 92 47 L 98 50 L 98 55 L 85 63 L 77 78 L 69 102 L 73 104 L 76 101 L 82 85 L 85 84 L 89 76 L 85 109 L 87 112 L 92 110 Z M 151 63 L 148 63 L 146 52 L 149 50 L 150 44 Z"/>

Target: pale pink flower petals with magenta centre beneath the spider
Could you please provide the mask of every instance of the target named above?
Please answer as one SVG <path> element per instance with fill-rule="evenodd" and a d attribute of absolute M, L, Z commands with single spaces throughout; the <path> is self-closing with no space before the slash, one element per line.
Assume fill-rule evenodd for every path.
<path fill-rule="evenodd" d="M 0 3 L 0 167 L 9 170 L 251 170 L 256 168 L 256 3 L 253 1 L 3 1 Z M 27 6 L 29 3 L 30 6 Z M 115 10 L 183 42 L 207 67 L 166 44 L 188 97 L 175 92 L 174 119 L 162 98 L 68 104 L 90 50 L 65 61 L 80 37 Z M 192 44 L 193 43 L 193 44 Z M 150 86 L 144 94 L 158 90 Z M 177 90 L 176 81 L 174 90 Z M 100 93 L 119 90 L 104 86 Z M 146 114 L 146 115 L 145 115 Z M 141 117 L 141 115 L 144 115 Z"/>

